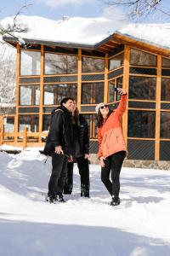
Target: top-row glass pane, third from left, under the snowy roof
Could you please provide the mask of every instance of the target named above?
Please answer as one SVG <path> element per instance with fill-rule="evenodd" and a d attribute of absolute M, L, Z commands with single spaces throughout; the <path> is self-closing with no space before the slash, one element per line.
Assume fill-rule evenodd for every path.
<path fill-rule="evenodd" d="M 105 71 L 105 60 L 82 57 L 82 73 L 95 73 Z"/>

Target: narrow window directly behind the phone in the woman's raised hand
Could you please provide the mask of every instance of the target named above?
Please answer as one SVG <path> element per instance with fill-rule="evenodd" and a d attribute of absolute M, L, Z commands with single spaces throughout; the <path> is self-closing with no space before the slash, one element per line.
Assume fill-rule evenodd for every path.
<path fill-rule="evenodd" d="M 120 95 L 114 90 L 116 88 L 122 88 L 122 77 L 118 79 L 111 80 L 109 82 L 109 98 L 108 102 L 116 102 L 120 100 Z"/>

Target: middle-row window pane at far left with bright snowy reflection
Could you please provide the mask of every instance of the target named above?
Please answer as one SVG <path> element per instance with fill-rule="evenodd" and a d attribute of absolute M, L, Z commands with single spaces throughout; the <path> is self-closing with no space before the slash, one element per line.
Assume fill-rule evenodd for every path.
<path fill-rule="evenodd" d="M 20 85 L 20 105 L 39 105 L 39 85 Z"/>

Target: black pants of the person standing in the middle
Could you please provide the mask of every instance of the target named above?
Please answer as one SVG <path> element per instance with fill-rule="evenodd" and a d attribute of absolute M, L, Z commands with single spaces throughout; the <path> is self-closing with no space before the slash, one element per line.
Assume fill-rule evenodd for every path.
<path fill-rule="evenodd" d="M 90 181 L 89 181 L 89 165 L 88 159 L 84 159 L 84 156 L 77 157 L 77 166 L 80 174 L 81 187 L 85 186 L 85 189 L 89 191 Z M 73 188 L 73 166 L 74 163 L 68 163 L 67 165 L 67 178 L 65 180 L 65 194 L 71 194 Z"/>

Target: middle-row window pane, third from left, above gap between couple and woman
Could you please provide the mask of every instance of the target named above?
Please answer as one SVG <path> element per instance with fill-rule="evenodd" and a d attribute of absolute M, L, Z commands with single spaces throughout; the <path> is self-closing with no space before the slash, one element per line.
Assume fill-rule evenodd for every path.
<path fill-rule="evenodd" d="M 93 104 L 104 101 L 104 83 L 82 84 L 82 104 Z"/>

